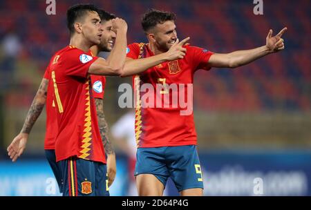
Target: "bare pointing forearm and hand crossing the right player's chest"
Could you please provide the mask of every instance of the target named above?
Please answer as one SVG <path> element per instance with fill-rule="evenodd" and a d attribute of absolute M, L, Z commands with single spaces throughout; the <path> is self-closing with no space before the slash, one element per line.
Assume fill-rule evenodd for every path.
<path fill-rule="evenodd" d="M 148 68 L 151 68 L 153 66 L 157 66 L 158 64 L 162 64 L 165 61 L 182 59 L 187 52 L 187 49 L 183 48 L 182 46 L 184 46 L 189 39 L 190 38 L 187 37 L 180 42 L 177 39 L 175 44 L 171 46 L 167 53 L 161 53 L 159 55 L 142 59 L 131 59 L 127 57 L 121 77 L 137 75 L 139 73 L 142 73 L 144 70 L 147 70 Z"/>

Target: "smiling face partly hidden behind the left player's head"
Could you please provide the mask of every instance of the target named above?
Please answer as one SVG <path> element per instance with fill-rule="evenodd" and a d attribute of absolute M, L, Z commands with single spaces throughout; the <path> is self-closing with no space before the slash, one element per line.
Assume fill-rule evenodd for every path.
<path fill-rule="evenodd" d="M 110 52 L 115 44 L 115 32 L 111 30 L 112 21 L 102 22 L 102 41 L 100 41 L 100 51 Z"/>

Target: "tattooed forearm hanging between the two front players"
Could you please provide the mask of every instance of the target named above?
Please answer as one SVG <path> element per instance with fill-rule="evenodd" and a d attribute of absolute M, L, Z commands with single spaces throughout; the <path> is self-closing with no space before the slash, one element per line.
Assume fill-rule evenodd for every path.
<path fill-rule="evenodd" d="M 100 135 L 102 137 L 102 143 L 104 144 L 104 149 L 107 155 L 115 153 L 113 145 L 108 139 L 108 124 L 105 120 L 104 115 L 104 103 L 102 99 L 95 99 L 96 111 L 98 125 L 100 126 Z"/>

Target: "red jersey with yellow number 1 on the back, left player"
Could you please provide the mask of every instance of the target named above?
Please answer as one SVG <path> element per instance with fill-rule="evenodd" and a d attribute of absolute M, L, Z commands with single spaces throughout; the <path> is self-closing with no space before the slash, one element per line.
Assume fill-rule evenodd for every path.
<path fill-rule="evenodd" d="M 50 63 L 57 115 L 57 162 L 71 156 L 106 163 L 88 68 L 98 57 L 73 46 L 59 50 Z"/>

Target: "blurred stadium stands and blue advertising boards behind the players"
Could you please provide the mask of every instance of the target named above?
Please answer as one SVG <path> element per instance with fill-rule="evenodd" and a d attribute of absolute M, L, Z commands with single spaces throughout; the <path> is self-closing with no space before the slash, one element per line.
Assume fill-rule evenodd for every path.
<path fill-rule="evenodd" d="M 32 128 L 26 151 L 10 162 L 6 147 L 19 133 L 50 57 L 68 44 L 66 10 L 95 5 L 124 18 L 128 42 L 147 41 L 140 17 L 147 8 L 177 14 L 178 37 L 217 53 L 265 44 L 270 28 L 283 27 L 285 50 L 236 70 L 200 70 L 195 76 L 194 115 L 205 195 L 311 195 L 311 69 L 308 0 L 263 1 L 65 1 L 46 15 L 46 1 L 0 1 L 0 195 L 49 193 L 53 173 L 44 158 L 45 113 Z M 126 109 L 117 106 L 119 84 L 107 78 L 104 111 L 109 125 Z M 113 138 L 111 138 L 113 141 Z M 126 155 L 117 150 L 111 195 L 127 193 Z M 52 178 L 52 179 L 50 179 Z M 166 195 L 176 195 L 169 182 Z"/>

